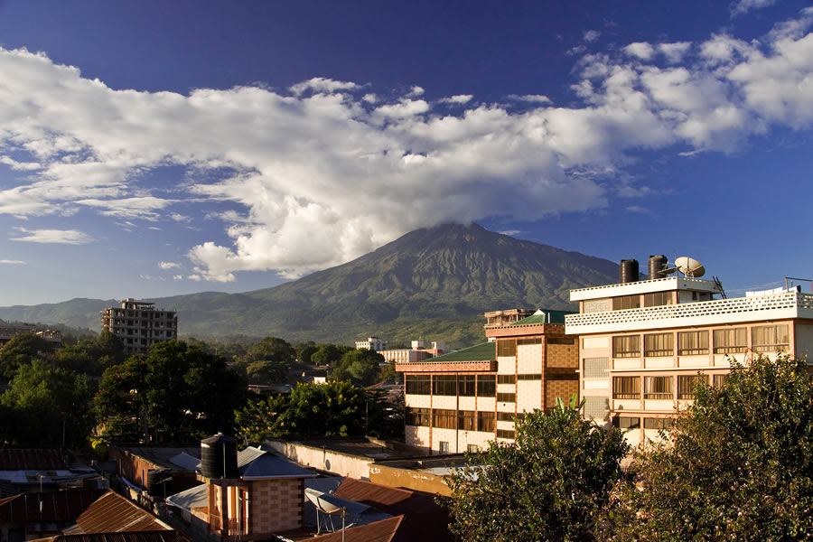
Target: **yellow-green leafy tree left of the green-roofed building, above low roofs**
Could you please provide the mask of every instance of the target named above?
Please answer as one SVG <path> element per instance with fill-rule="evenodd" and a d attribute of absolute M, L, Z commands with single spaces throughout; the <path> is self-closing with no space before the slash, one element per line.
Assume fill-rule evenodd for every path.
<path fill-rule="evenodd" d="M 251 443 L 267 437 L 364 435 L 368 394 L 350 382 L 299 384 L 289 394 L 278 394 L 236 413 L 239 435 Z M 376 408 L 376 406 L 373 406 Z"/>

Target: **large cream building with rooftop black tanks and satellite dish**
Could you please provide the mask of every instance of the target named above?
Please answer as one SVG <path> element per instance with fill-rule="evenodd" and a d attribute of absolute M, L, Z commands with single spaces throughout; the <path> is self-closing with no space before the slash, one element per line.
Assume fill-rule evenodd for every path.
<path fill-rule="evenodd" d="M 732 360 L 813 350 L 813 295 L 798 288 L 724 298 L 716 277 L 634 275 L 572 290 L 580 310 L 565 316 L 579 338 L 584 416 L 621 427 L 630 444 L 658 439 L 697 380 L 720 385 Z"/>

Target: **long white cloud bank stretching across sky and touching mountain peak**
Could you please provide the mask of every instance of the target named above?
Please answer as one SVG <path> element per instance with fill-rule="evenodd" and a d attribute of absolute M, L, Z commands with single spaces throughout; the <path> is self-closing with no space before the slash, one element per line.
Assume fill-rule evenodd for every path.
<path fill-rule="evenodd" d="M 648 191 L 623 174 L 641 150 L 731 153 L 778 126 L 807 130 L 811 24 L 807 8 L 751 42 L 717 33 L 587 49 L 568 107 L 544 89 L 482 103 L 324 78 L 188 96 L 117 90 L 44 54 L 0 50 L 0 164 L 20 179 L 0 188 L 0 213 L 188 222 L 176 207 L 192 204 L 222 221 L 228 242 L 190 247 L 189 277 L 233 281 L 246 270 L 301 276 L 444 222 L 601 209 Z M 148 181 L 173 167 L 183 173 L 172 185 Z M 18 231 L 18 241 L 96 237 Z"/>

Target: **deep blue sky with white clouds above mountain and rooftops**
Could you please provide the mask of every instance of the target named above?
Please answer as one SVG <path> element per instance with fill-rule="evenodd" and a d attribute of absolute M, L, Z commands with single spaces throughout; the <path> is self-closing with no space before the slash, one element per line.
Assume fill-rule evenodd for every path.
<path fill-rule="evenodd" d="M 813 9 L 0 0 L 0 305 L 243 292 L 476 221 L 813 276 Z"/>

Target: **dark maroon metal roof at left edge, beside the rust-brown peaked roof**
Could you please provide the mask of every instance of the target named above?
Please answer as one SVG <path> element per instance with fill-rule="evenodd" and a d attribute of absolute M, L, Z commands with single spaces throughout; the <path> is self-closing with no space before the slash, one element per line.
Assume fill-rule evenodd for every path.
<path fill-rule="evenodd" d="M 0 522 L 73 521 L 104 492 L 67 490 L 22 493 L 7 497 L 0 500 Z"/>

